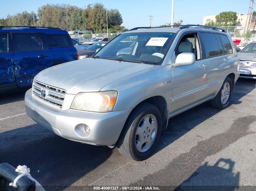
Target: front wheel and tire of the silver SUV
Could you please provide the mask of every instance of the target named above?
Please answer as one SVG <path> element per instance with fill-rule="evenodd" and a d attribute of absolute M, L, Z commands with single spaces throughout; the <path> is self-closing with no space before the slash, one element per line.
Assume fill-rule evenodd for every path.
<path fill-rule="evenodd" d="M 134 161 L 148 158 L 161 135 L 162 119 L 158 108 L 144 103 L 136 108 L 127 119 L 118 139 L 118 151 Z"/>

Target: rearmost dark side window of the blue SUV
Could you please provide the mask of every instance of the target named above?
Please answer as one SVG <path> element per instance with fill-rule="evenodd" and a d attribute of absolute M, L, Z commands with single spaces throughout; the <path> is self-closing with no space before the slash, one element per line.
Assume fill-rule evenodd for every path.
<path fill-rule="evenodd" d="M 68 34 L 44 34 L 43 40 L 45 41 L 48 48 L 63 48 L 74 46 Z"/>

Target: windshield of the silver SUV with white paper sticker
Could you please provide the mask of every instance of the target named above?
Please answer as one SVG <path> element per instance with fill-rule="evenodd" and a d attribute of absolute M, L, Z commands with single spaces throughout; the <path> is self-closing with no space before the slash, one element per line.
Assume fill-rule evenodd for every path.
<path fill-rule="evenodd" d="M 170 32 L 123 33 L 111 40 L 94 57 L 161 64 L 175 35 Z"/>

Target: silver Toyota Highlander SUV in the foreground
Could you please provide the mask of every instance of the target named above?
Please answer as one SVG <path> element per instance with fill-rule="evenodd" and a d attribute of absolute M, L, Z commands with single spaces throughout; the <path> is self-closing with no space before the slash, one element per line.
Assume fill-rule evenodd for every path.
<path fill-rule="evenodd" d="M 131 44 L 131 53 L 120 54 Z M 92 58 L 40 72 L 26 92 L 25 108 L 63 138 L 116 145 L 125 157 L 141 161 L 171 117 L 209 100 L 215 108 L 228 107 L 238 68 L 236 49 L 223 29 L 138 27 Z"/>

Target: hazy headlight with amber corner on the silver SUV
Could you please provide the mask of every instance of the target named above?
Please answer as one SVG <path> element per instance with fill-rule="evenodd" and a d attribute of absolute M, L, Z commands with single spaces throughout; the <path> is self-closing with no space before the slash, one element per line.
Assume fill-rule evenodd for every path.
<path fill-rule="evenodd" d="M 99 92 L 82 92 L 78 93 L 70 109 L 110 112 L 113 111 L 117 100 L 117 91 L 99 91 Z"/>

